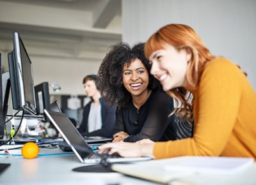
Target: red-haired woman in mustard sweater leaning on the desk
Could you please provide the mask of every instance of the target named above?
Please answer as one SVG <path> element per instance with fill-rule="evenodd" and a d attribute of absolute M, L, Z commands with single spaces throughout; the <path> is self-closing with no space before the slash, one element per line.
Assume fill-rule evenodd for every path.
<path fill-rule="evenodd" d="M 193 114 L 193 138 L 168 142 L 141 140 L 99 147 L 121 156 L 227 156 L 256 159 L 256 93 L 236 64 L 216 57 L 189 26 L 169 24 L 145 44 L 150 73 L 164 91 Z M 189 103 L 186 91 L 193 94 Z M 179 112 L 180 114 L 182 112 Z M 184 112 L 183 112 L 184 113 Z M 101 151 L 102 152 L 102 151 Z"/>

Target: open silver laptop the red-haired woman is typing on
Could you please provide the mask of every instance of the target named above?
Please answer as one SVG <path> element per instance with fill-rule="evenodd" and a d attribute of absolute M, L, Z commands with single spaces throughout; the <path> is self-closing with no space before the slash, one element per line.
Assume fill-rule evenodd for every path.
<path fill-rule="evenodd" d="M 76 127 L 70 122 L 67 115 L 46 109 L 44 112 L 47 117 L 49 117 L 52 124 L 60 131 L 62 137 L 66 140 L 67 144 L 70 145 L 72 151 L 74 151 L 81 163 L 101 163 L 102 159 L 104 159 L 104 163 L 124 163 L 152 159 L 150 157 L 122 158 L 118 155 L 98 154 L 97 152 L 93 152 L 79 131 L 77 131 Z"/>

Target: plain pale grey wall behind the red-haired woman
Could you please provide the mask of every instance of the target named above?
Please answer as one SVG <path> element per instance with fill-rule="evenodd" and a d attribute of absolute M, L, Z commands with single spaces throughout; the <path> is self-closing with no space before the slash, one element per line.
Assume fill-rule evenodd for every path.
<path fill-rule="evenodd" d="M 147 41 L 170 23 L 193 27 L 212 54 L 239 64 L 256 89 L 255 0 L 122 1 L 123 41 Z"/>

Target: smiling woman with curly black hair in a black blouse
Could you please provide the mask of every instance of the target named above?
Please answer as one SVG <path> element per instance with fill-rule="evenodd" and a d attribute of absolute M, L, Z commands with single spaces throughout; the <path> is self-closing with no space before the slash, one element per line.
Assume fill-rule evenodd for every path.
<path fill-rule="evenodd" d="M 143 43 L 130 48 L 127 43 L 111 47 L 100 68 L 101 91 L 116 105 L 113 142 L 176 140 L 173 98 L 161 90 L 150 75 Z"/>

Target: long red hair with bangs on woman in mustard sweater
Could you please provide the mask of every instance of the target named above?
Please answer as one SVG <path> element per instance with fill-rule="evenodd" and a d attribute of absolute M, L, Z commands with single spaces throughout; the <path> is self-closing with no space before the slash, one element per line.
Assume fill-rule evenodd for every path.
<path fill-rule="evenodd" d="M 198 87 L 205 64 L 214 59 L 215 56 L 212 56 L 211 52 L 205 47 L 198 34 L 191 27 L 184 24 L 168 24 L 150 36 L 144 47 L 145 56 L 149 58 L 153 52 L 163 49 L 166 44 L 172 45 L 177 50 L 185 48 L 191 51 L 191 61 L 189 61 L 186 71 L 186 81 L 191 87 Z M 172 114 L 177 112 L 180 117 L 186 115 L 187 121 L 190 122 L 193 107 L 188 100 L 191 94 L 188 96 L 188 91 L 184 87 L 170 89 L 166 93 L 172 96 L 177 103 L 178 100 L 182 103 L 182 106 L 175 108 Z"/>

